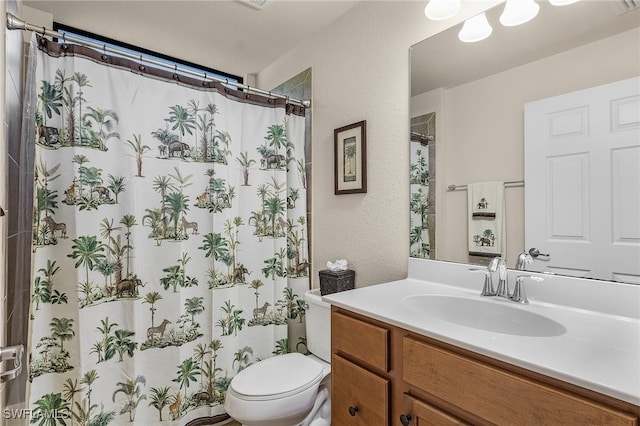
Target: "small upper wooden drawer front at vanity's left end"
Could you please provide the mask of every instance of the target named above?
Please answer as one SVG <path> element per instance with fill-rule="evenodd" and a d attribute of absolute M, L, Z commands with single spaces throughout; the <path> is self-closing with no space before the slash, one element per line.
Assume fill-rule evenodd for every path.
<path fill-rule="evenodd" d="M 384 372 L 389 372 L 389 335 L 384 327 L 332 312 L 333 352 L 353 356 Z"/>

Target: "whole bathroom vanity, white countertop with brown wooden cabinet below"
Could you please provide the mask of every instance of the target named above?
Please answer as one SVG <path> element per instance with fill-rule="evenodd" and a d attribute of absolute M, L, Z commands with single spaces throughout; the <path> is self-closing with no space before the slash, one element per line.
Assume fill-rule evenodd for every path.
<path fill-rule="evenodd" d="M 569 296 L 589 280 L 555 278 L 519 305 L 480 298 L 464 265 L 411 259 L 406 280 L 325 296 L 332 424 L 638 425 L 640 288 L 611 283 L 593 311 Z"/>

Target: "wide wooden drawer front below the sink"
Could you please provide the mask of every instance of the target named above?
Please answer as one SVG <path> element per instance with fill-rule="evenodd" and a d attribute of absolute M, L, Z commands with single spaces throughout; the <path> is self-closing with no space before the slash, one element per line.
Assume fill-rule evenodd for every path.
<path fill-rule="evenodd" d="M 571 395 L 411 337 L 403 378 L 416 388 L 495 424 L 637 425 L 637 416 Z"/>

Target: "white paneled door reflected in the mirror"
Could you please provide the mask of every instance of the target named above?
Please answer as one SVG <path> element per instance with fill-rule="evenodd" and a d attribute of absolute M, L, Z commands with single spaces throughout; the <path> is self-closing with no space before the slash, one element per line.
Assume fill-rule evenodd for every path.
<path fill-rule="evenodd" d="M 531 269 L 640 284 L 640 78 L 525 105 Z"/>

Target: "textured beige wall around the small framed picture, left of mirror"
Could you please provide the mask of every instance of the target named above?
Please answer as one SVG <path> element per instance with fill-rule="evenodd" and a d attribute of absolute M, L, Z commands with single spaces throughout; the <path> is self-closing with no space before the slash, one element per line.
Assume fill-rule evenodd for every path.
<path fill-rule="evenodd" d="M 463 3 L 455 19 L 425 18 L 426 1 L 364 1 L 258 74 L 273 87 L 313 68 L 313 285 L 346 258 L 356 286 L 406 277 L 409 256 L 409 47 L 493 2 Z M 367 120 L 368 192 L 334 195 L 333 130 Z"/>

